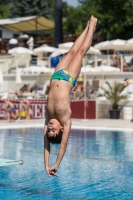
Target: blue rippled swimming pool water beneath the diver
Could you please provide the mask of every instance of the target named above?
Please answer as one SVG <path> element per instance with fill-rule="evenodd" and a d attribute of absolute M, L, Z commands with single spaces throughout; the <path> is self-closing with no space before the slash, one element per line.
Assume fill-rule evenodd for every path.
<path fill-rule="evenodd" d="M 43 129 L 0 130 L 0 158 L 24 161 L 0 167 L 2 200 L 133 199 L 133 132 L 72 130 L 59 177 L 44 170 Z"/>

